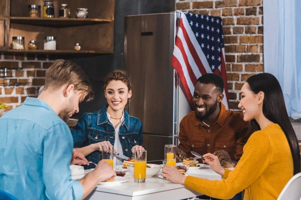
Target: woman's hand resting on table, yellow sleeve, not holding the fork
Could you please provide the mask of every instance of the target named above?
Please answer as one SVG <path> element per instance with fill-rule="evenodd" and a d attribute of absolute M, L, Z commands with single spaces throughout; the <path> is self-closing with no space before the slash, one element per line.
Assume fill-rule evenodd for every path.
<path fill-rule="evenodd" d="M 165 165 L 162 168 L 161 175 L 176 184 L 184 185 L 186 179 L 185 175 L 183 175 L 175 166 L 171 165 Z"/>

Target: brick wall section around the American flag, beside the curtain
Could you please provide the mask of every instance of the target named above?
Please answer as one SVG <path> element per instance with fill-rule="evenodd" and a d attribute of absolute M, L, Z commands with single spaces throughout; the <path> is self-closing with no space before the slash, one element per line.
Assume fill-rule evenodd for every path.
<path fill-rule="evenodd" d="M 176 7 L 222 17 L 229 107 L 237 110 L 244 81 L 263 71 L 262 0 L 176 0 Z"/>

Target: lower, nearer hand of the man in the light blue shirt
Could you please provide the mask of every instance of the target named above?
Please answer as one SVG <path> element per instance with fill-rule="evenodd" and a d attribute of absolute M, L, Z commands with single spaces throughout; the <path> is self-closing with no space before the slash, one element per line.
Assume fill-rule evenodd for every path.
<path fill-rule="evenodd" d="M 100 160 L 93 170 L 93 172 L 97 173 L 99 175 L 99 181 L 103 182 L 107 179 L 113 179 L 116 176 L 116 172 L 112 168 L 112 166 L 103 160 Z"/>

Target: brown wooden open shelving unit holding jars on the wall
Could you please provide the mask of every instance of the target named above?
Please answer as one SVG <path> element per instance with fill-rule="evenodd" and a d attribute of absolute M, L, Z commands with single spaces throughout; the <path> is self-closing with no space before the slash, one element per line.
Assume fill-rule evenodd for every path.
<path fill-rule="evenodd" d="M 61 3 L 70 8 L 70 18 L 59 18 Z M 113 53 L 115 0 L 54 0 L 55 18 L 28 17 L 28 4 L 43 0 L 0 0 L 0 51 L 28 53 Z M 88 8 L 90 18 L 75 18 L 78 7 Z M 9 49 L 13 36 L 25 37 L 25 49 Z M 57 50 L 43 50 L 44 37 L 56 36 Z M 36 40 L 38 50 L 27 44 Z M 80 43 L 81 50 L 73 49 Z"/>

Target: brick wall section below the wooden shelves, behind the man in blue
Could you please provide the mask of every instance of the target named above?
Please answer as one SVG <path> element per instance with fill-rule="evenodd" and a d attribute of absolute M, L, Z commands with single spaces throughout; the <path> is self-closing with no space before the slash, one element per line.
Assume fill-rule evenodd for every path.
<path fill-rule="evenodd" d="M 11 78 L 0 78 L 0 102 L 6 102 L 9 107 L 6 111 L 21 105 L 27 96 L 36 97 L 41 85 L 45 82 L 45 73 L 56 57 L 44 54 L 26 54 L 26 53 L 1 53 L 0 69 L 7 67 L 22 67 L 19 73 L 16 70 L 9 70 L 8 75 Z M 0 76 L 3 70 L 0 70 Z M 20 86 L 3 86 L 3 83 L 14 84 L 19 78 Z M 29 82 L 29 83 L 26 83 Z"/>

